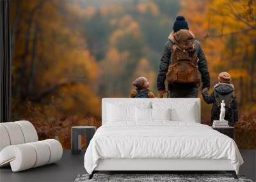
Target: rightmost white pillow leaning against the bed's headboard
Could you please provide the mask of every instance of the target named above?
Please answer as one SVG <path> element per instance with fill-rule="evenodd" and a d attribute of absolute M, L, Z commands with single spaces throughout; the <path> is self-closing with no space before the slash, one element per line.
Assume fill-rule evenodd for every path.
<path fill-rule="evenodd" d="M 195 104 L 188 105 L 188 107 L 184 107 L 182 109 L 171 109 L 171 120 L 196 123 Z"/>

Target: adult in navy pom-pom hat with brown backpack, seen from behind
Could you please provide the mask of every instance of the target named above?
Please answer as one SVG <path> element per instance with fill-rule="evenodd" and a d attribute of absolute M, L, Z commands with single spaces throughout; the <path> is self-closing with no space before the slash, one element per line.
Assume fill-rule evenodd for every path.
<path fill-rule="evenodd" d="M 179 16 L 165 44 L 157 76 L 157 90 L 166 93 L 165 80 L 171 98 L 197 98 L 200 79 L 202 91 L 208 91 L 210 76 L 204 51 L 185 18 Z"/>

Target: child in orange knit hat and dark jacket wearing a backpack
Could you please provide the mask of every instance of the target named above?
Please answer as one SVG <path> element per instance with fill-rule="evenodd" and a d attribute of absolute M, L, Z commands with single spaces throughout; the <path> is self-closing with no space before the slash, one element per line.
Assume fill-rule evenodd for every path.
<path fill-rule="evenodd" d="M 231 75 L 221 72 L 218 77 L 219 83 L 214 86 L 214 91 L 209 95 L 203 92 L 202 96 L 206 103 L 212 103 L 211 121 L 220 119 L 220 103 L 225 102 L 225 120 L 229 126 L 234 126 L 238 121 L 237 103 L 234 85 L 231 84 Z"/>

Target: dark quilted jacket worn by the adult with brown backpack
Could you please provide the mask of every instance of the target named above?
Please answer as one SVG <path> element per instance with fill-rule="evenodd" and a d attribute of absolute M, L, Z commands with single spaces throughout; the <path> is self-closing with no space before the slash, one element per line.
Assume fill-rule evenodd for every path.
<path fill-rule="evenodd" d="M 157 89 L 159 91 L 165 89 L 164 81 L 166 79 L 166 73 L 168 71 L 168 66 L 170 64 L 170 57 L 172 54 L 172 46 L 173 43 L 171 40 L 168 40 L 165 44 L 163 56 L 161 57 L 160 61 L 160 66 L 159 66 L 159 73 L 157 76 Z M 205 87 L 210 87 L 210 75 L 208 72 L 208 66 L 207 66 L 207 61 L 205 59 L 204 51 L 202 50 L 200 43 L 195 40 L 195 49 L 196 49 L 196 56 L 198 57 L 198 69 L 199 72 L 202 75 L 202 83 L 203 83 L 203 88 Z M 195 85 L 191 84 L 177 84 L 177 87 L 195 87 Z M 169 88 L 172 86 L 168 86 Z"/>

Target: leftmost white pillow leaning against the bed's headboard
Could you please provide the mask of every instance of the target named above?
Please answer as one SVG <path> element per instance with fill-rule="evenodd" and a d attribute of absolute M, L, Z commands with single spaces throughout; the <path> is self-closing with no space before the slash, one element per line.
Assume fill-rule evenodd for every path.
<path fill-rule="evenodd" d="M 108 104 L 108 122 L 134 121 L 135 107 Z"/>

